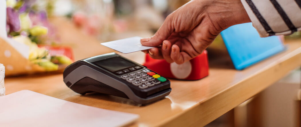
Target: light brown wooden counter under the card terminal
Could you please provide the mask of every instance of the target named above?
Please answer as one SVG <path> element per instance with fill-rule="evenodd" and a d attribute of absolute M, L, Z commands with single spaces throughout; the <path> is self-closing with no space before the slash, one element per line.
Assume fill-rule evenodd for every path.
<path fill-rule="evenodd" d="M 68 34 L 76 34 L 74 32 L 69 29 Z M 75 38 L 73 42 L 89 45 L 82 47 L 86 49 L 80 46 L 74 49 L 76 59 L 112 51 L 89 37 Z M 197 81 L 170 80 L 170 95 L 147 106 L 103 94 L 81 96 L 64 84 L 62 74 L 5 78 L 5 87 L 7 94 L 27 89 L 83 105 L 139 114 L 140 119 L 131 126 L 204 126 L 299 67 L 301 41 L 287 44 L 287 51 L 243 71 L 237 71 L 231 65 L 225 66 L 223 63 L 229 62 L 227 60 L 209 61 L 208 77 Z M 137 52 L 125 56 L 141 63 L 144 55 Z"/>

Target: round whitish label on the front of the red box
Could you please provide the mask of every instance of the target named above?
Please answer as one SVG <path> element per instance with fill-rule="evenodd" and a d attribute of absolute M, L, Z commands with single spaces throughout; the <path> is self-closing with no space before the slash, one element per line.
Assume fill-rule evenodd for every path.
<path fill-rule="evenodd" d="M 185 79 L 190 75 L 192 66 L 191 66 L 190 61 L 187 61 L 182 64 L 177 64 L 177 63 L 173 62 L 173 63 L 170 63 L 170 70 L 171 70 L 172 75 L 175 76 L 175 78 Z"/>

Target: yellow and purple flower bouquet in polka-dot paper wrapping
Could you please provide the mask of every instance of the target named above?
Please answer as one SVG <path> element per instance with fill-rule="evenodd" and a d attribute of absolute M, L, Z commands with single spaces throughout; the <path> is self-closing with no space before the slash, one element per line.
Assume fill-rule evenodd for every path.
<path fill-rule="evenodd" d="M 0 2 L 0 63 L 6 75 L 58 71 L 73 62 L 72 49 L 57 46 L 47 16 L 51 8 L 48 0 Z"/>

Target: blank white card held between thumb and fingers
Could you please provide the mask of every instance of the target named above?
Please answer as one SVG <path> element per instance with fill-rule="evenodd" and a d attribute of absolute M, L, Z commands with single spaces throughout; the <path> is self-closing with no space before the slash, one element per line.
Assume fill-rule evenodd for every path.
<path fill-rule="evenodd" d="M 121 53 L 131 53 L 154 48 L 149 46 L 142 46 L 140 39 L 141 37 L 130 37 L 101 44 Z"/>

